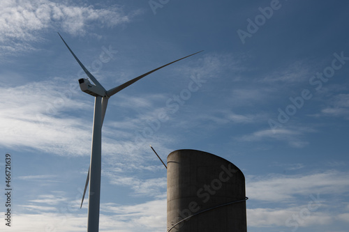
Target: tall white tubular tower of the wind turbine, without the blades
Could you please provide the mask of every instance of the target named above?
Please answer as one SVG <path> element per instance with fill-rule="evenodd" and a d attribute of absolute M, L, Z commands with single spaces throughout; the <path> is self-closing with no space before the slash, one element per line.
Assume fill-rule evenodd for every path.
<path fill-rule="evenodd" d="M 87 214 L 87 232 L 98 232 L 99 206 L 101 199 L 102 164 L 102 97 L 95 99 L 94 128 L 92 133 L 91 163 L 89 170 L 89 212 Z"/>

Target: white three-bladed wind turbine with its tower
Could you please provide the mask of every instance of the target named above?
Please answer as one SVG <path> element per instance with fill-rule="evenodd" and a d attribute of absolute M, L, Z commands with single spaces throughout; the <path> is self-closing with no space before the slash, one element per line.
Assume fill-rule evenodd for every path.
<path fill-rule="evenodd" d="M 59 34 L 59 33 L 58 33 Z M 59 37 L 61 35 L 59 34 Z M 115 93 L 121 91 L 122 89 L 130 86 L 131 84 L 137 82 L 139 79 L 151 74 L 151 72 L 155 72 L 161 68 L 164 68 L 167 65 L 180 61 L 182 59 L 186 59 L 189 56 L 193 56 L 198 54 L 199 52 L 195 52 L 194 54 L 184 56 L 181 59 L 177 59 L 176 61 L 172 61 L 171 63 L 165 64 L 159 68 L 151 70 L 149 72 L 140 75 L 139 77 L 135 77 L 134 79 L 129 80 L 128 82 L 121 84 L 120 86 L 111 88 L 110 90 L 105 90 L 105 88 L 97 81 L 97 79 L 84 67 L 84 65 L 77 59 L 74 52 L 67 45 L 66 41 L 61 37 L 66 47 L 68 47 L 71 54 L 73 54 L 77 63 L 80 64 L 82 70 L 86 73 L 87 77 L 91 79 L 93 84 L 89 82 L 88 78 L 79 79 L 80 88 L 85 93 L 89 95 L 93 95 L 95 97 L 94 101 L 94 124 L 92 130 L 92 145 L 91 145 L 91 161 L 89 166 L 89 172 L 87 173 L 87 180 L 84 187 L 84 194 L 82 196 L 82 203 L 84 201 L 84 195 L 87 190 L 87 185 L 89 184 L 89 209 L 87 213 L 87 232 L 98 232 L 99 227 L 99 206 L 100 206 L 100 196 L 101 196 L 101 150 L 102 150 L 102 125 L 104 121 L 105 111 L 107 110 L 107 102 L 109 98 Z M 202 52 L 202 51 L 200 51 Z M 80 208 L 81 208 L 80 206 Z"/>

